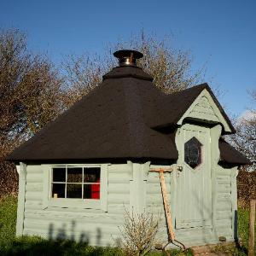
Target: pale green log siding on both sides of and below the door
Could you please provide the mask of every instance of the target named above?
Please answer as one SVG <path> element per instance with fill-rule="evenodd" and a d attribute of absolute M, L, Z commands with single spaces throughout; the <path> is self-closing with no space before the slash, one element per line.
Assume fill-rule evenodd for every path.
<path fill-rule="evenodd" d="M 168 168 L 170 166 L 165 167 Z M 155 166 L 153 168 L 155 168 Z M 212 189 L 212 192 L 216 191 L 216 196 L 213 197 L 216 199 L 216 202 L 212 208 L 212 226 L 174 230 L 177 241 L 182 241 L 187 247 L 206 243 L 217 243 L 219 236 L 225 236 L 227 241 L 234 241 L 234 227 L 232 221 L 234 221 L 233 214 L 236 209 L 234 209 L 232 205 L 234 201 L 236 201 L 236 195 L 233 194 L 234 191 L 232 191 L 231 186 L 231 183 L 234 182 L 234 179 L 232 181 L 231 178 L 232 170 L 215 166 L 212 172 L 216 172 L 216 183 L 214 189 Z M 168 197 L 172 211 L 172 223 L 174 226 L 176 217 L 176 198 L 175 192 L 173 192 L 172 189 L 176 186 L 176 175 L 177 173 L 175 172 L 172 172 L 172 174 L 165 174 L 166 188 L 168 190 Z M 236 187 L 236 184 L 233 184 L 233 187 Z M 214 200 L 213 198 L 212 200 Z M 156 172 L 148 173 L 146 202 L 148 212 L 154 213 L 155 217 L 158 217 L 159 215 L 161 217 L 158 240 L 166 243 L 167 226 L 160 190 L 160 178 Z M 173 247 L 172 244 L 170 246 Z"/>

